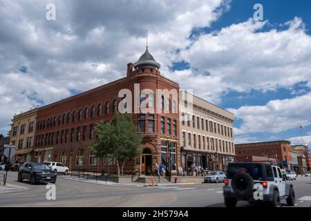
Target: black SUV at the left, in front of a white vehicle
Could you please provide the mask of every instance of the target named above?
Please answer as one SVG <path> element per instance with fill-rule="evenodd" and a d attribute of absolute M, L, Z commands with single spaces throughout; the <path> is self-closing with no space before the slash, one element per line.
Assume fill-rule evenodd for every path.
<path fill-rule="evenodd" d="M 56 177 L 57 174 L 51 171 L 44 163 L 25 162 L 19 168 L 17 181 L 30 180 L 30 184 L 36 184 L 37 182 L 51 182 L 55 184 Z"/>

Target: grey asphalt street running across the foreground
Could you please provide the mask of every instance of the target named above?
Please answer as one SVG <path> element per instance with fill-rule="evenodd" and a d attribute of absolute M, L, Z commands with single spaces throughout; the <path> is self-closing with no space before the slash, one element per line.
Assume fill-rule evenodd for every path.
<path fill-rule="evenodd" d="M 311 204 L 310 177 L 299 177 L 294 184 L 296 206 Z M 17 173 L 10 172 L 8 183 L 26 186 L 26 191 L 1 193 L 0 206 L 216 206 L 223 207 L 223 183 L 164 184 L 162 186 L 115 186 L 72 180 L 57 176 L 56 200 L 47 200 L 46 184 L 17 182 Z M 135 185 L 135 184 L 134 184 Z M 261 206 L 238 202 L 237 206 Z M 283 206 L 286 206 L 285 200 Z"/>

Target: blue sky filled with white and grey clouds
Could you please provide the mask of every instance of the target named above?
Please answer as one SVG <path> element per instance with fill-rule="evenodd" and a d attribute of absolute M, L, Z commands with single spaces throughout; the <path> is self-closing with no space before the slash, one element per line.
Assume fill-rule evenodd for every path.
<path fill-rule="evenodd" d="M 46 5 L 56 20 L 46 19 Z M 263 21 L 254 21 L 255 3 Z M 15 113 L 106 84 L 149 51 L 232 111 L 236 143 L 311 144 L 310 1 L 0 0 L 0 133 Z"/>

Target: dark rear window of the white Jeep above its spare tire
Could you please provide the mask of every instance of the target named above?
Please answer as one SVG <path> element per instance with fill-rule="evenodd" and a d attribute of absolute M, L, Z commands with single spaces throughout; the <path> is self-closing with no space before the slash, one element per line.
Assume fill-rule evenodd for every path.
<path fill-rule="evenodd" d="M 233 164 L 228 167 L 228 178 L 232 177 L 236 173 L 248 173 L 254 180 L 263 180 L 263 175 L 261 173 L 261 165 L 256 164 Z"/>

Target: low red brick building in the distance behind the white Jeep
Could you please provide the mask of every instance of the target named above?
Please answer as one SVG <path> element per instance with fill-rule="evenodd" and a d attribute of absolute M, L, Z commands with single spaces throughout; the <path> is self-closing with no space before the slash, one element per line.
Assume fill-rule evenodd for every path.
<path fill-rule="evenodd" d="M 236 149 L 236 161 L 252 161 L 254 156 L 265 157 L 276 160 L 281 168 L 288 168 L 286 165 L 290 165 L 292 161 L 288 140 L 235 144 L 234 148 Z"/>

